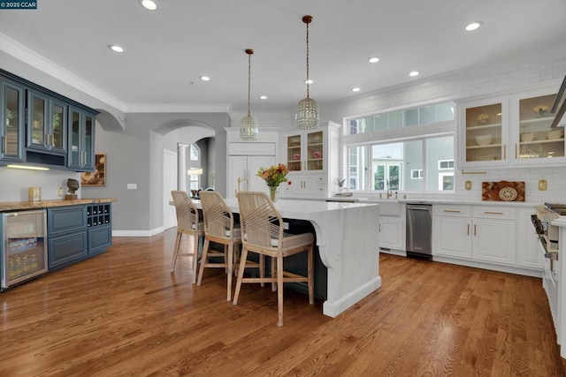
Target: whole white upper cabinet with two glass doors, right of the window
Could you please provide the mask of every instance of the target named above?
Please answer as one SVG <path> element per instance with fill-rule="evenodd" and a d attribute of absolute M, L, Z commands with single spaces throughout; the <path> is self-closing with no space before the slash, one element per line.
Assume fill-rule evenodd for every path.
<path fill-rule="evenodd" d="M 550 128 L 553 89 L 458 106 L 458 166 L 529 167 L 566 163 L 564 123 Z"/>

